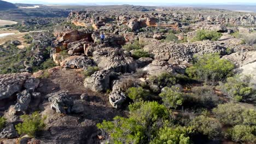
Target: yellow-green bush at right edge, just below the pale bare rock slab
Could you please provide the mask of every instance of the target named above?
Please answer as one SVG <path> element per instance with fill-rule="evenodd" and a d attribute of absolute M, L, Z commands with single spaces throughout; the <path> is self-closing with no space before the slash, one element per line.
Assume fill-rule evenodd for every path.
<path fill-rule="evenodd" d="M 219 82 L 219 87 L 236 101 L 255 101 L 256 92 L 249 86 L 249 82 L 243 82 L 239 76 L 228 77 L 226 82 Z"/>

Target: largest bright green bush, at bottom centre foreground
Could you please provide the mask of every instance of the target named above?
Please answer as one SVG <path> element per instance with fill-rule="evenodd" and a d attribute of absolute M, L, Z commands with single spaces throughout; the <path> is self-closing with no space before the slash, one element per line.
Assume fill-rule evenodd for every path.
<path fill-rule="evenodd" d="M 128 118 L 115 117 L 113 122 L 103 121 L 97 127 L 109 143 L 149 143 L 169 115 L 165 106 L 141 101 L 130 110 Z"/>

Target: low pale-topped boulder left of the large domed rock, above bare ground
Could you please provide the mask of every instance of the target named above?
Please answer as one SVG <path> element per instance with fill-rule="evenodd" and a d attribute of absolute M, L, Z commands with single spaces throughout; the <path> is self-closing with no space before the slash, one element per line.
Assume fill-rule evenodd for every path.
<path fill-rule="evenodd" d="M 87 69 L 92 66 L 92 59 L 84 56 L 71 56 L 61 62 L 61 66 L 68 69 Z"/>

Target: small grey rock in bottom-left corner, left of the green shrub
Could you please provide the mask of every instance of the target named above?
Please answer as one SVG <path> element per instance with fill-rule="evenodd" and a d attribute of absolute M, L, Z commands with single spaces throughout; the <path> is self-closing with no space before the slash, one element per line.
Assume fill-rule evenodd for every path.
<path fill-rule="evenodd" d="M 13 139 L 18 137 L 18 133 L 14 128 L 13 124 L 5 127 L 0 133 L 0 139 Z"/>

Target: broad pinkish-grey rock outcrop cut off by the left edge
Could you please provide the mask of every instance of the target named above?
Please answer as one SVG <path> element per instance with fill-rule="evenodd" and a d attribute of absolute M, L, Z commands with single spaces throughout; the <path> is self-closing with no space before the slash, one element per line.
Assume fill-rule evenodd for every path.
<path fill-rule="evenodd" d="M 30 85 L 30 80 L 26 81 L 30 76 L 31 74 L 29 73 L 0 75 L 0 100 L 20 92 L 25 82 L 26 87 L 29 89 L 28 86 L 33 85 Z"/>

